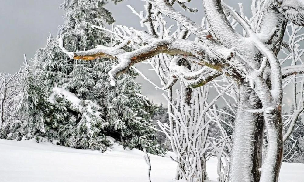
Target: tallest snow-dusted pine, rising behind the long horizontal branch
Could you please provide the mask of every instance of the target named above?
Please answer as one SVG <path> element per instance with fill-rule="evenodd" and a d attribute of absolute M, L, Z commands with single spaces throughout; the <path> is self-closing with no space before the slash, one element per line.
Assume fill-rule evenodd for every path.
<path fill-rule="evenodd" d="M 105 45 L 109 40 L 104 32 L 92 25 L 103 27 L 103 22 L 112 23 L 109 11 L 101 0 L 66 1 L 60 8 L 67 11 L 59 35 L 64 37 L 69 50 L 91 49 Z M 150 153 L 161 153 L 156 145 L 153 123 L 149 120 L 155 106 L 140 94 L 140 85 L 135 83 L 134 71 L 119 76 L 117 86 L 109 84 L 107 72 L 116 62 L 102 59 L 93 62 L 80 61 L 74 64 L 63 88 L 75 93 L 80 99 L 97 102 L 105 123 L 102 133 L 114 137 L 125 147 L 147 148 Z M 95 82 L 94 82 L 95 81 Z"/>

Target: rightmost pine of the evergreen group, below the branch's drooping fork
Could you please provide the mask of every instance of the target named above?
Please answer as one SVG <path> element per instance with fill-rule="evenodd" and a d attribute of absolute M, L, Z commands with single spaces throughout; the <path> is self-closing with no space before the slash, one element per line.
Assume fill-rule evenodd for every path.
<path fill-rule="evenodd" d="M 105 98 L 106 119 L 109 136 L 129 148 L 146 148 L 149 153 L 160 154 L 163 150 L 157 145 L 153 121 L 150 120 L 156 106 L 140 93 L 140 85 L 134 81 L 136 73 L 130 70 L 117 78 L 116 86 L 107 86 Z M 104 81 L 102 81 L 104 82 Z M 105 82 L 104 82 L 105 83 Z M 102 103 L 101 103 L 102 104 Z"/>

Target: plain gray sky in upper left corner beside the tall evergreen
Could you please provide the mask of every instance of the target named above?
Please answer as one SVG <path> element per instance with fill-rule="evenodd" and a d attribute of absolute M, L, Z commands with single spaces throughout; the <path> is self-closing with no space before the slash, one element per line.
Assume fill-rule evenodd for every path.
<path fill-rule="evenodd" d="M 49 32 L 57 35 L 62 24 L 62 0 L 0 0 L 0 72 L 16 72 L 23 54 L 32 58 L 47 43 Z"/>

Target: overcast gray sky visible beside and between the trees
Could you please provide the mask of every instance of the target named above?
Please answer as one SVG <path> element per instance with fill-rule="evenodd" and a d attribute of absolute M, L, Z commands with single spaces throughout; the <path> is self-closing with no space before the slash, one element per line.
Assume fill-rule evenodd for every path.
<path fill-rule="evenodd" d="M 0 0 L 0 72 L 16 72 L 23 62 L 23 54 L 28 59 L 33 58 L 37 49 L 46 45 L 46 38 L 51 32 L 57 35 L 57 27 L 63 23 L 63 10 L 58 9 L 64 0 Z M 237 2 L 244 4 L 245 13 L 250 12 L 250 2 L 248 0 L 226 0 L 227 4 L 237 7 Z M 140 0 L 126 0 L 114 5 L 110 2 L 106 5 L 116 19 L 116 25 L 126 25 L 136 29 L 140 27 L 139 19 L 132 14 L 126 5 L 132 5 L 136 10 L 143 10 L 144 2 Z M 202 11 L 202 0 L 192 0 L 191 7 L 199 9 L 199 12 L 187 13 L 196 23 L 201 22 L 204 16 Z M 181 10 L 182 11 L 182 10 Z M 144 71 L 152 80 L 158 83 L 158 78 L 153 71 L 147 70 L 149 67 L 143 64 L 137 67 Z M 153 99 L 155 103 L 165 102 L 160 90 L 156 90 L 142 78 L 136 79 L 143 84 L 143 95 Z"/>

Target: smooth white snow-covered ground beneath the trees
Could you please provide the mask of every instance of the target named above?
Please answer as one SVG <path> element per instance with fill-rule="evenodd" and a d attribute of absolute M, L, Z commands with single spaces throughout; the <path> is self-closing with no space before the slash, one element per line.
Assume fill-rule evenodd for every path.
<path fill-rule="evenodd" d="M 147 164 L 140 150 L 100 153 L 51 143 L 0 140 L 0 182 L 146 182 Z M 176 164 L 167 157 L 151 155 L 151 181 L 171 182 Z M 207 162 L 216 180 L 216 158 Z M 304 182 L 304 164 L 283 163 L 280 182 Z"/>

